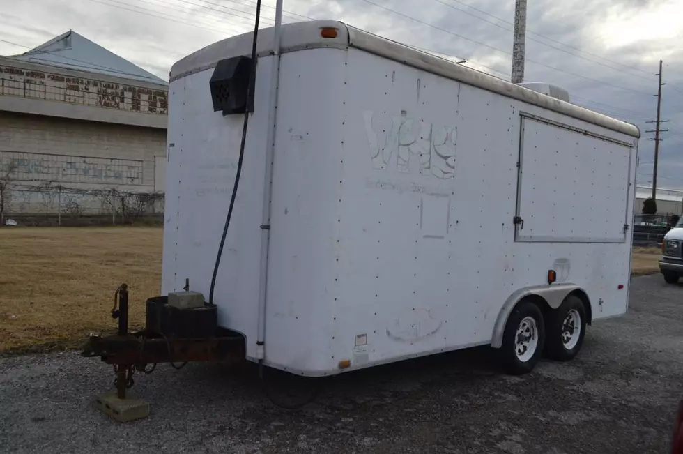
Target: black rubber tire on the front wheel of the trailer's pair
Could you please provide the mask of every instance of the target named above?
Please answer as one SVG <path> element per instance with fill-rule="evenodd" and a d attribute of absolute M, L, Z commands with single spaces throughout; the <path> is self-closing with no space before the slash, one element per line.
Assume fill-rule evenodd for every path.
<path fill-rule="evenodd" d="M 528 359 L 521 359 L 517 354 L 517 331 L 522 321 L 531 317 L 535 321 L 536 329 L 532 335 L 536 336 L 536 347 L 533 354 Z M 531 372 L 538 363 L 543 352 L 546 338 L 545 323 L 543 314 L 537 305 L 531 301 L 521 301 L 510 313 L 505 324 L 505 332 L 502 336 L 502 346 L 500 347 L 500 359 L 505 366 L 507 373 L 521 375 Z"/>

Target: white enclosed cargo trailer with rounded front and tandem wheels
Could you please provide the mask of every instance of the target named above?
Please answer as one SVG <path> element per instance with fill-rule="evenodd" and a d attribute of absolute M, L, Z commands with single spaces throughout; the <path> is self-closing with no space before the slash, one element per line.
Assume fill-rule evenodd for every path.
<path fill-rule="evenodd" d="M 261 30 L 247 100 L 251 44 L 171 70 L 162 277 L 209 293 L 249 110 L 214 298 L 248 359 L 491 345 L 525 372 L 626 312 L 636 126 L 334 21 Z"/>

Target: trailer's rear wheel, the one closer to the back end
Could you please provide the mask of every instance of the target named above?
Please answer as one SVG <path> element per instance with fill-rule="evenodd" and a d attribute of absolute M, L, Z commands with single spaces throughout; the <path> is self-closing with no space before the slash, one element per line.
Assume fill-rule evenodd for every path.
<path fill-rule="evenodd" d="M 570 317 L 570 312 L 573 317 Z M 567 339 L 565 343 L 565 336 L 571 336 L 571 331 L 576 328 L 576 315 L 580 317 L 578 323 L 578 338 L 574 340 Z M 578 296 L 569 295 L 562 301 L 562 305 L 556 310 L 551 310 L 546 315 L 546 355 L 548 358 L 555 361 L 569 361 L 578 354 L 583 345 L 583 338 L 585 336 L 586 315 L 583 301 Z M 573 337 L 573 336 L 572 336 Z M 570 347 L 570 348 L 569 348 Z"/>

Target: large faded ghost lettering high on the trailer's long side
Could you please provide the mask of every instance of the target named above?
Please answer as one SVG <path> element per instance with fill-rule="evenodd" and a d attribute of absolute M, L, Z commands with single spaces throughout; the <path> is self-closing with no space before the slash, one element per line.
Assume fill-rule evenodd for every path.
<path fill-rule="evenodd" d="M 396 162 L 399 172 L 409 173 L 411 162 L 417 160 L 420 174 L 453 178 L 456 128 L 411 119 L 405 111 L 387 119 L 376 118 L 374 112 L 366 111 L 363 119 L 374 169 L 387 169 Z"/>

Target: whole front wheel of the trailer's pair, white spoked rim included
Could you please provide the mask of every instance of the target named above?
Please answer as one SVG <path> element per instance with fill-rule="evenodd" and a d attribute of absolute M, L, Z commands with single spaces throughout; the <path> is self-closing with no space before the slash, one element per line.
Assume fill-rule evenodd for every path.
<path fill-rule="evenodd" d="M 543 314 L 531 301 L 522 301 L 507 318 L 500 354 L 509 374 L 531 372 L 541 358 L 546 338 Z"/>

